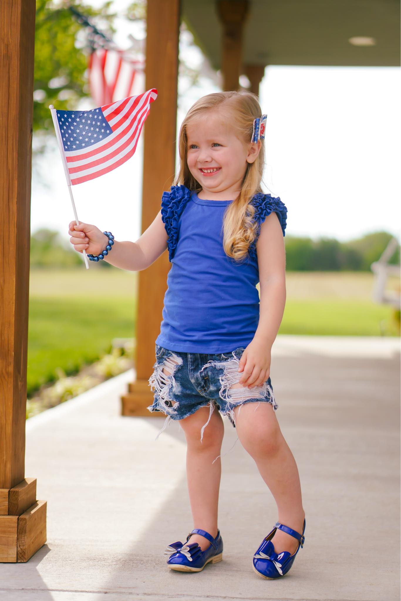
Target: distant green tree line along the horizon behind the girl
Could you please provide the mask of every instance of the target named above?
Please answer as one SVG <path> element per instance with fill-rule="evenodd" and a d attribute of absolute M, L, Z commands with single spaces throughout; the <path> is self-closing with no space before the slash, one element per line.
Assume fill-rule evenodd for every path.
<path fill-rule="evenodd" d="M 370 271 L 393 236 L 387 231 L 366 234 L 361 238 L 338 242 L 335 238 L 286 235 L 287 271 Z M 390 263 L 400 260 L 400 246 L 391 257 Z M 81 266 L 83 257 L 70 242 L 61 239 L 57 231 L 41 228 L 31 236 L 31 267 L 75 267 Z M 98 263 L 111 267 L 106 261 Z"/>

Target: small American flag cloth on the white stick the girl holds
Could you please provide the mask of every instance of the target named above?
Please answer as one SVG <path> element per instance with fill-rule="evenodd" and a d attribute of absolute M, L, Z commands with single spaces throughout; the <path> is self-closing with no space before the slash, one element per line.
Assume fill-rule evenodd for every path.
<path fill-rule="evenodd" d="M 153 88 L 90 111 L 55 109 L 71 185 L 100 177 L 132 157 L 157 97 Z"/>

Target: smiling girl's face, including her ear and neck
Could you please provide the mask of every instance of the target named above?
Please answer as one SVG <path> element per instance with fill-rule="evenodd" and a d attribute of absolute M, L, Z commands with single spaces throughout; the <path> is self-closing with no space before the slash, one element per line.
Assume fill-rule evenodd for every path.
<path fill-rule="evenodd" d="M 245 144 L 234 131 L 221 113 L 212 110 L 186 126 L 188 168 L 210 200 L 235 200 L 246 163 L 253 163 L 259 154 L 260 142 Z"/>

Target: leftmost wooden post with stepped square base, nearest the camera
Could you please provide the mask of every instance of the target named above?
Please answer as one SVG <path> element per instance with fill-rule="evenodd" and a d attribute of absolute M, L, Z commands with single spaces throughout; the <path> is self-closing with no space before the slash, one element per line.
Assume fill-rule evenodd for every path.
<path fill-rule="evenodd" d="M 0 4 L 0 562 L 46 542 L 46 501 L 24 478 L 35 0 Z"/>

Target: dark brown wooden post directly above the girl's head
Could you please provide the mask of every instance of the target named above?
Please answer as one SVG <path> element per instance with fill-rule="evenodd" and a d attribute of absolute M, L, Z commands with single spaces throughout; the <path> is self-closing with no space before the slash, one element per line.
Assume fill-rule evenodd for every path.
<path fill-rule="evenodd" d="M 223 90 L 238 90 L 242 64 L 242 30 L 248 13 L 248 0 L 217 0 L 222 23 L 221 69 Z"/>

